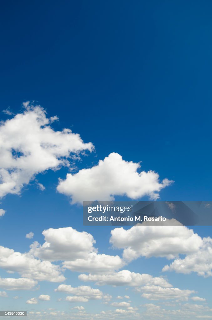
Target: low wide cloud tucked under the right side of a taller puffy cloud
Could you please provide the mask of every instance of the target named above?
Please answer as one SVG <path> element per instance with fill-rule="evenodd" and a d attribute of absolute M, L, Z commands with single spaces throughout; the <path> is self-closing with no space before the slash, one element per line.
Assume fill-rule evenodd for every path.
<path fill-rule="evenodd" d="M 86 259 L 65 261 L 63 266 L 77 272 L 102 273 L 120 269 L 123 266 L 123 262 L 119 256 L 110 256 L 107 254 L 97 254 L 92 252 L 86 256 Z"/>

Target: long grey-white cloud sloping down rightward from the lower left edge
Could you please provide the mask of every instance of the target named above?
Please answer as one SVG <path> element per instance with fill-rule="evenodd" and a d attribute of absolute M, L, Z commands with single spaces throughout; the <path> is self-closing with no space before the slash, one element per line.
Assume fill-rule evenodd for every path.
<path fill-rule="evenodd" d="M 50 261 L 41 261 L 29 253 L 15 252 L 3 246 L 0 246 L 0 268 L 40 281 L 60 282 L 65 280 L 60 267 L 53 265 Z"/>

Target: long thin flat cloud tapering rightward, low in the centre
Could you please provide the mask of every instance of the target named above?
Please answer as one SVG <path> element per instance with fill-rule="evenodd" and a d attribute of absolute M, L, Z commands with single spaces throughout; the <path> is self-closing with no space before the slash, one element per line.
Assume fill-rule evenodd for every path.
<path fill-rule="evenodd" d="M 148 274 L 140 274 L 131 272 L 129 270 L 122 270 L 111 274 L 82 274 L 78 276 L 81 281 L 92 281 L 98 285 L 110 284 L 114 286 L 129 285 L 141 286 L 144 284 L 161 285 L 164 287 L 171 287 L 171 284 L 162 277 L 153 277 Z"/>

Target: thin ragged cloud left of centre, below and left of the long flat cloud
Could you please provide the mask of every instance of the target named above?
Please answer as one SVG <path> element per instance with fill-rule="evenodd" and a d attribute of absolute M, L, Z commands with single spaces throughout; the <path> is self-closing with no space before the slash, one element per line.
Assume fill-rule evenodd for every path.
<path fill-rule="evenodd" d="M 85 299 L 102 299 L 103 293 L 99 289 L 93 289 L 87 285 L 81 285 L 79 287 L 72 287 L 71 285 L 67 284 L 60 284 L 57 289 L 54 291 L 56 292 L 67 292 L 74 294 L 76 296 L 82 296 Z"/>

